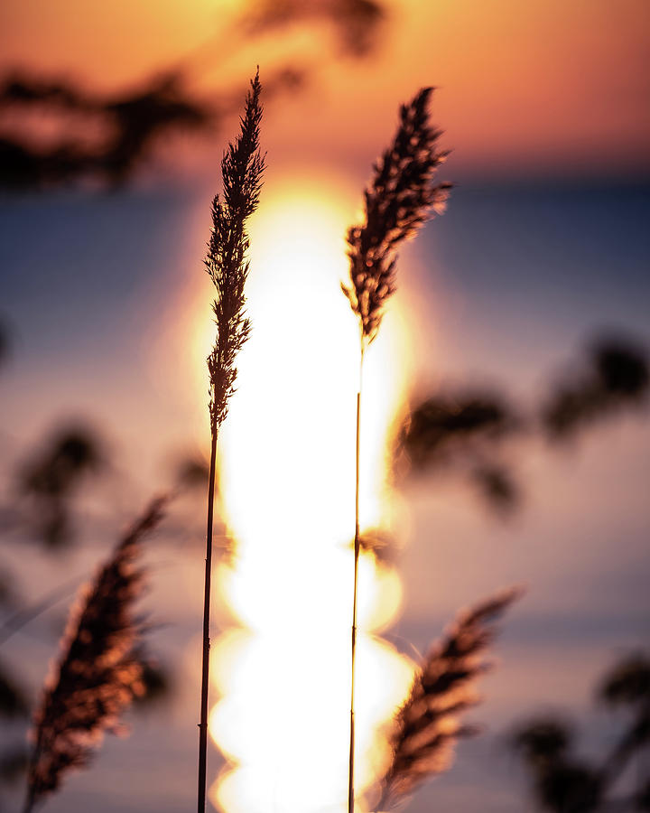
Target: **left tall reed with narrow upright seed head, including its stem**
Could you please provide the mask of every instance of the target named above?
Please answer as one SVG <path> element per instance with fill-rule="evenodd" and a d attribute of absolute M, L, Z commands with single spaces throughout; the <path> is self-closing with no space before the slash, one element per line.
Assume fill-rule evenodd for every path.
<path fill-rule="evenodd" d="M 199 723 L 199 813 L 206 807 L 209 699 L 209 616 L 212 576 L 212 528 L 214 523 L 217 438 L 228 415 L 228 400 L 235 391 L 235 359 L 250 333 L 246 317 L 244 285 L 248 276 L 246 220 L 259 202 L 265 159 L 259 149 L 262 120 L 259 70 L 246 96 L 240 131 L 228 145 L 221 161 L 223 192 L 212 201 L 212 234 L 205 266 L 217 294 L 212 304 L 217 337 L 208 357 L 210 464 L 208 485 L 208 527 L 206 531 L 205 588 L 203 595 L 203 651 Z"/>

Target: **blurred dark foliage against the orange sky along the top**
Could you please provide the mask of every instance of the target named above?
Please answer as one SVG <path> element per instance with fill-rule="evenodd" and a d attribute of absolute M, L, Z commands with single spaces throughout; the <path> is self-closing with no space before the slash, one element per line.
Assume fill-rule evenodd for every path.
<path fill-rule="evenodd" d="M 250 46 L 255 37 L 280 35 L 295 23 L 325 21 L 338 35 L 339 50 L 362 58 L 375 50 L 385 18 L 385 4 L 378 0 L 259 0 L 219 31 L 222 42 L 214 52 L 245 40 Z M 237 110 L 239 88 L 219 98 L 197 98 L 190 89 L 194 72 L 190 54 L 131 89 L 99 93 L 74 79 L 10 71 L 0 78 L 0 190 L 42 191 L 79 182 L 115 188 L 130 182 L 163 139 L 210 133 Z M 265 102 L 278 91 L 300 88 L 308 73 L 292 58 L 266 70 Z M 34 114 L 58 122 L 58 140 L 42 143 L 32 126 Z"/>

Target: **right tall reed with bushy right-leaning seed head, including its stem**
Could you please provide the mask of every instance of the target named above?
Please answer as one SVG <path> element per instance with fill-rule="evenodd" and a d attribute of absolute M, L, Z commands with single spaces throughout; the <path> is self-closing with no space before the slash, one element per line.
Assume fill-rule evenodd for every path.
<path fill-rule="evenodd" d="M 355 478 L 354 593 L 350 680 L 348 813 L 354 813 L 355 790 L 355 666 L 357 655 L 357 592 L 359 559 L 359 461 L 361 394 L 366 350 L 376 338 L 388 298 L 396 287 L 396 249 L 412 238 L 433 213 L 440 214 L 450 184 L 434 184 L 436 169 L 447 153 L 438 148 L 441 130 L 429 123 L 432 88 L 421 89 L 400 109 L 393 144 L 377 160 L 364 192 L 365 220 L 348 229 L 349 285 L 341 285 L 359 320 L 359 386 Z"/>

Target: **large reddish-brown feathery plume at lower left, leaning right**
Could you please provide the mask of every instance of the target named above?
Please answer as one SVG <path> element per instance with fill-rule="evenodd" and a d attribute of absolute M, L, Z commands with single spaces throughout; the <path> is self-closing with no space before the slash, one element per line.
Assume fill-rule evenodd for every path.
<path fill-rule="evenodd" d="M 133 612 L 143 572 L 134 561 L 166 502 L 153 500 L 70 611 L 59 662 L 34 715 L 25 813 L 57 790 L 70 768 L 88 764 L 104 732 L 117 730 L 120 713 L 143 691 Z"/>

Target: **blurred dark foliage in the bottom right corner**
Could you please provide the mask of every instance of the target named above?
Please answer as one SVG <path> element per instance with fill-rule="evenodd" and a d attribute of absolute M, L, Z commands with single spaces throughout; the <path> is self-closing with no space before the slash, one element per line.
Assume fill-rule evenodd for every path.
<path fill-rule="evenodd" d="M 573 727 L 556 717 L 534 719 L 512 734 L 539 808 L 552 813 L 649 809 L 650 777 L 624 799 L 617 798 L 615 787 L 632 759 L 650 745 L 650 657 L 641 652 L 617 663 L 602 681 L 598 699 L 627 712 L 627 725 L 599 761 L 576 756 Z"/>

